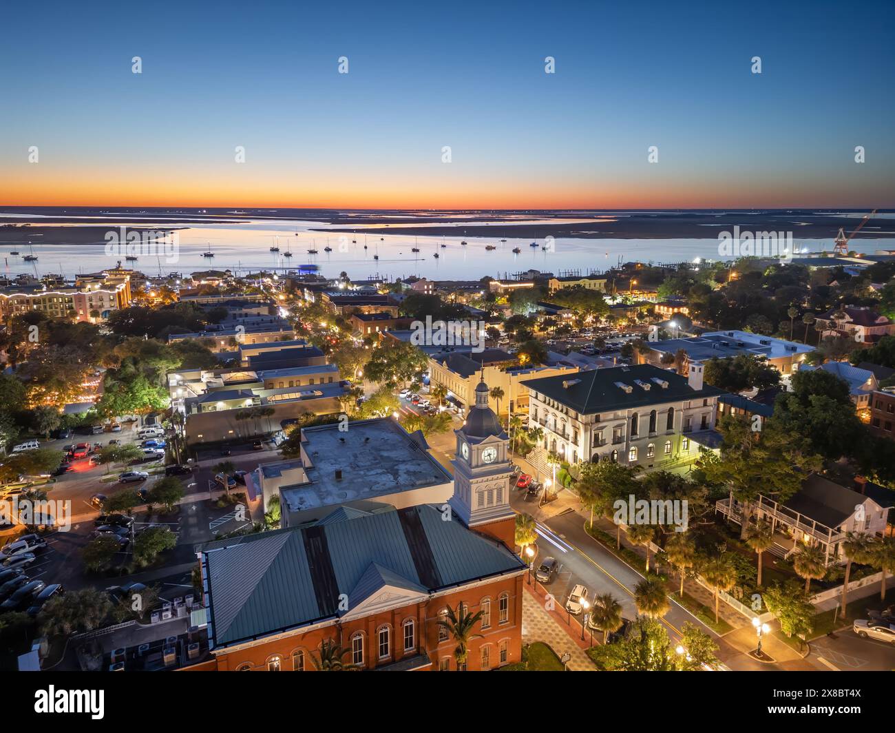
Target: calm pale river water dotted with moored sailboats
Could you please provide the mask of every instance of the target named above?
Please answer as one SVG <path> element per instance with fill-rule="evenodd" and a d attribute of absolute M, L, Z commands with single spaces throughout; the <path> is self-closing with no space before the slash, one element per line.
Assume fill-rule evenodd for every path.
<path fill-rule="evenodd" d="M 52 220 L 41 220 L 39 217 L 28 217 L 27 220 L 35 224 L 52 223 Z M 140 221 L 132 222 L 133 225 L 141 223 L 145 224 Z M 119 224 L 119 221 L 115 221 L 110 229 L 115 229 Z M 149 223 L 148 226 L 158 228 L 158 222 Z M 478 280 L 485 275 L 505 277 L 507 274 L 529 269 L 557 273 L 601 272 L 618 264 L 619 259 L 624 262 L 640 260 L 653 263 L 692 261 L 696 257 L 721 259 L 718 240 L 715 238 L 558 238 L 552 243 L 552 249 L 545 251 L 541 246 L 548 243 L 542 240 L 537 242 L 537 247 L 533 247 L 530 246 L 531 239 L 508 236 L 506 242 L 501 242 L 501 237 L 465 237 L 468 244 L 462 246 L 462 224 L 457 225 L 456 237 L 405 236 L 399 234 L 399 228 L 394 225 L 383 227 L 378 234 L 366 237 L 311 231 L 330 228 L 320 222 L 294 220 L 202 225 L 179 230 L 179 246 L 172 256 L 143 254 L 136 262 L 123 264 L 149 275 L 159 272 L 188 274 L 209 268 L 243 273 L 274 268 L 285 271 L 312 263 L 320 267 L 321 274 L 329 277 L 345 271 L 354 279 L 378 274 L 390 278 L 417 275 L 433 280 Z M 36 263 L 22 260 L 22 255 L 29 254 L 27 245 L 12 246 L 0 242 L 0 264 L 4 266 L 4 273 L 14 276 L 21 272 L 38 275 L 62 272 L 71 278 L 80 272 L 98 272 L 114 266 L 116 260 L 124 259 L 120 255 L 107 254 L 102 245 L 64 244 L 64 235 L 56 237 L 56 244 L 38 244 L 42 238 L 35 237 L 32 243 L 34 254 L 38 255 Z M 796 238 L 794 242 L 797 250 L 807 248 L 812 251 L 830 251 L 833 246 L 832 239 Z M 442 244 L 445 246 L 441 246 Z M 275 245 L 279 246 L 279 253 L 269 251 Z M 203 257 L 202 253 L 208 251 L 209 246 L 215 256 Z M 331 247 L 332 252 L 324 252 L 326 246 Z M 496 249 L 488 251 L 486 246 L 494 246 Z M 895 239 L 860 239 L 853 242 L 852 246 L 857 251 L 872 253 L 876 249 L 895 248 Z M 420 252 L 412 252 L 413 247 Z M 518 247 L 521 252 L 515 254 L 514 247 Z M 9 254 L 13 249 L 20 254 Z M 317 249 L 318 254 L 308 254 L 309 249 Z M 287 250 L 292 252 L 291 258 L 284 256 Z M 379 255 L 378 261 L 374 260 L 376 254 Z M 439 257 L 436 258 L 435 254 L 439 254 Z"/>

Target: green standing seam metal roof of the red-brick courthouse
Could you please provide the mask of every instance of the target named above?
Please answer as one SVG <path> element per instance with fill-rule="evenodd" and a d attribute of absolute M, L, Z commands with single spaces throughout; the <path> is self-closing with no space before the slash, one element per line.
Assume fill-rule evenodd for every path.
<path fill-rule="evenodd" d="M 401 510 L 413 513 L 428 543 L 441 585 L 429 587 L 416 563 L 424 551 L 408 544 L 399 513 L 343 513 L 344 521 L 311 528 L 261 532 L 218 540 L 203 556 L 209 581 L 209 617 L 214 647 L 260 638 L 329 617 L 322 608 L 305 551 L 305 533 L 323 532 L 338 592 L 349 608 L 385 584 L 421 592 L 524 570 L 523 561 L 494 539 L 468 530 L 455 515 L 443 518 L 429 504 Z M 430 554 L 430 556 L 429 556 Z M 326 558 L 325 558 L 326 559 Z"/>

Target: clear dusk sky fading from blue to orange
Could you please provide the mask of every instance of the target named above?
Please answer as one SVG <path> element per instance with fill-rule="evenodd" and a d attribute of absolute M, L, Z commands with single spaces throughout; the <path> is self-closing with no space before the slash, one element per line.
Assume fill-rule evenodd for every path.
<path fill-rule="evenodd" d="M 0 206 L 895 206 L 891 0 L 29 2 L 4 27 Z"/>

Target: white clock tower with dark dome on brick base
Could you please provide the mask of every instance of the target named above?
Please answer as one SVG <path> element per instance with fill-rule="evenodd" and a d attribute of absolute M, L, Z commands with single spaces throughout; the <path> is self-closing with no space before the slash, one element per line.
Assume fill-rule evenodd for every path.
<path fill-rule="evenodd" d="M 516 513 L 510 508 L 509 439 L 488 406 L 488 385 L 475 388 L 475 406 L 455 430 L 454 496 L 451 508 L 471 530 L 499 539 L 513 549 Z"/>

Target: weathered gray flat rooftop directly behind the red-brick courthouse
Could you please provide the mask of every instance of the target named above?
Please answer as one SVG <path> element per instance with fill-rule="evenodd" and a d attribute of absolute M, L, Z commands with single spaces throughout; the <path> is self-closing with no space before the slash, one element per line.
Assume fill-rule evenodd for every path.
<path fill-rule="evenodd" d="M 453 480 L 391 418 L 352 422 L 346 431 L 338 428 L 338 423 L 305 428 L 311 483 L 280 487 L 290 512 L 375 499 Z M 337 470 L 342 471 L 341 479 L 336 478 Z"/>

